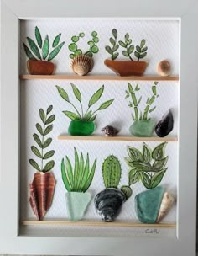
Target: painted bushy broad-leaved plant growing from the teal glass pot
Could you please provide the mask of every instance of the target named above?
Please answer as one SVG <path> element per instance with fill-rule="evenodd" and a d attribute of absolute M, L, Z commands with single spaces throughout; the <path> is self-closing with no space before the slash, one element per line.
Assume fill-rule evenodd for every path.
<path fill-rule="evenodd" d="M 166 163 L 169 159 L 165 156 L 167 142 L 159 144 L 151 150 L 143 143 L 143 152 L 135 147 L 128 146 L 128 157 L 125 158 L 129 167 L 129 185 L 142 182 L 147 189 L 157 187 L 167 171 Z"/>

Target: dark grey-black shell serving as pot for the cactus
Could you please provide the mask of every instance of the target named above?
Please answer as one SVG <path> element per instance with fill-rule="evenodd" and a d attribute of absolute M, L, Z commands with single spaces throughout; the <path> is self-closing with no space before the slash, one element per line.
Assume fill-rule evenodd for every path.
<path fill-rule="evenodd" d="M 126 197 L 120 189 L 104 189 L 94 199 L 97 213 L 102 221 L 112 222 L 122 209 Z"/>

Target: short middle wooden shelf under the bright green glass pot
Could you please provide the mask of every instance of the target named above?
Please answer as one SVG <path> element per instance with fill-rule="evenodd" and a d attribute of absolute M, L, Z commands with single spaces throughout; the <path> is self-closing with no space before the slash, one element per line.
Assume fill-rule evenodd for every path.
<path fill-rule="evenodd" d="M 60 135 L 58 136 L 60 141 L 167 141 L 174 142 L 178 141 L 177 136 L 168 136 L 168 137 L 134 137 L 134 136 L 69 136 L 69 135 Z"/>

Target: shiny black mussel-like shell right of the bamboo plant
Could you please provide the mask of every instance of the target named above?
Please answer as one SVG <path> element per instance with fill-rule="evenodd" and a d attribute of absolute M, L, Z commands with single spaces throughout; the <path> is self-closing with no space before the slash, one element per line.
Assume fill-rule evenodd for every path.
<path fill-rule="evenodd" d="M 174 119 L 171 110 L 168 113 L 163 115 L 162 120 L 155 126 L 155 132 L 159 137 L 164 137 L 169 134 L 170 131 L 173 130 L 174 127 Z"/>

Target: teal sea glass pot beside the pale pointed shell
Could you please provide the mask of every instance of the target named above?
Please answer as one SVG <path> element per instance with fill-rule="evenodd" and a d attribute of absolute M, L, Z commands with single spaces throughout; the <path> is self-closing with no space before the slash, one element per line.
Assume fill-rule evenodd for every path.
<path fill-rule="evenodd" d="M 135 211 L 140 222 L 149 224 L 157 221 L 163 195 L 164 188 L 161 186 L 136 195 Z"/>

